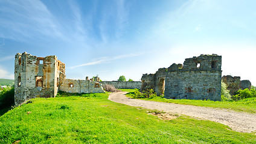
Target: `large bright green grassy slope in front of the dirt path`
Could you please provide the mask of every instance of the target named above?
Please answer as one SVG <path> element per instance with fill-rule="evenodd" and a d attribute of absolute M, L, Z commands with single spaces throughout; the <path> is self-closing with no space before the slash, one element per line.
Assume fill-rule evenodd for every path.
<path fill-rule="evenodd" d="M 254 134 L 226 125 L 187 116 L 165 121 L 107 96 L 35 98 L 0 117 L 0 143 L 256 143 Z"/>

